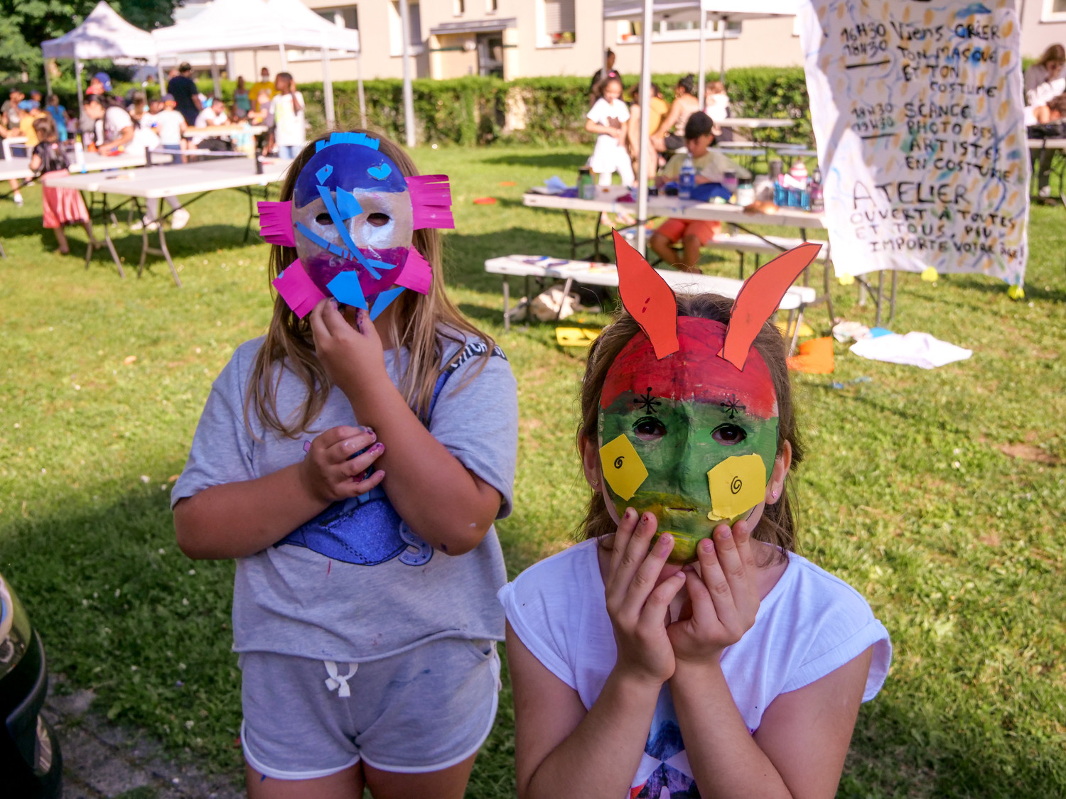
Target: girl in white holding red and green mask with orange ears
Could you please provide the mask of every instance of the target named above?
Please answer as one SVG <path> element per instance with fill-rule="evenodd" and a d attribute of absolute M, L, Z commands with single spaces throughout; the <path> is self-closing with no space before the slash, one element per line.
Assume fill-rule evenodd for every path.
<path fill-rule="evenodd" d="M 764 321 L 813 255 L 763 266 L 732 304 L 675 298 L 615 247 L 629 312 L 582 384 L 586 540 L 500 591 L 518 795 L 831 797 L 891 647 L 862 597 L 793 552 L 803 447 Z"/>

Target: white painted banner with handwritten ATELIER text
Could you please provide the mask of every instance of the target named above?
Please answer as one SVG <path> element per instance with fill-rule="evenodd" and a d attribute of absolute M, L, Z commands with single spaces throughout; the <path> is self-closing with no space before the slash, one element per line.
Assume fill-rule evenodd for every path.
<path fill-rule="evenodd" d="M 809 0 L 800 13 L 838 276 L 1021 286 L 1029 150 L 1013 0 Z"/>

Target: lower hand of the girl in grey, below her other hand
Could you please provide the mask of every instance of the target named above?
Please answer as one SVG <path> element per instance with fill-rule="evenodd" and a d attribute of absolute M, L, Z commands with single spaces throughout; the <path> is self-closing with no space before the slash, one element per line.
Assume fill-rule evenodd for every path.
<path fill-rule="evenodd" d="M 300 479 L 307 492 L 320 502 L 337 502 L 365 494 L 383 479 L 376 471 L 366 479 L 364 473 L 385 452 L 385 444 L 369 427 L 330 427 L 311 441 L 300 462 Z M 367 452 L 352 458 L 360 450 Z M 349 460 L 349 458 L 352 458 Z"/>

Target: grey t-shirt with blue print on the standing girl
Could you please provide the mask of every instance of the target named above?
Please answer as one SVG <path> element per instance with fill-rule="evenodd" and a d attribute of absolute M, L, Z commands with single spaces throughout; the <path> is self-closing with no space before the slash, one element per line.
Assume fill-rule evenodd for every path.
<path fill-rule="evenodd" d="M 511 512 L 518 445 L 511 365 L 499 348 L 487 359 L 478 357 L 485 352 L 479 340 L 441 342 L 443 363 L 461 347 L 463 355 L 446 381 L 438 381 L 430 431 L 500 492 L 497 518 L 502 519 Z M 357 424 L 351 404 L 335 387 L 310 433 L 280 437 L 264 429 L 254 411 L 249 431 L 244 398 L 261 344 L 262 339 L 255 339 L 239 346 L 215 379 L 172 506 L 210 486 L 275 472 L 301 460 L 305 444 L 324 430 Z M 406 349 L 385 353 L 394 384 L 407 358 Z M 279 418 L 294 412 L 305 395 L 301 380 L 282 371 Z M 411 532 L 378 487 L 334 503 L 277 544 L 238 558 L 233 650 L 359 663 L 436 638 L 502 640 L 503 609 L 496 592 L 504 583 L 495 527 L 471 552 L 446 555 Z"/>

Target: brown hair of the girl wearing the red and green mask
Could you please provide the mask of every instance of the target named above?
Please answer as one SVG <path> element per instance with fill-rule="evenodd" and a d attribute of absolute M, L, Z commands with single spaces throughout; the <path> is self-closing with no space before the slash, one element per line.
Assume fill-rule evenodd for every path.
<path fill-rule="evenodd" d="M 713 320 L 724 325 L 729 324 L 729 313 L 732 300 L 717 294 L 682 295 L 677 297 L 678 316 L 696 316 Z M 629 343 L 629 340 L 640 332 L 640 325 L 626 311 L 620 311 L 613 323 L 603 329 L 599 338 L 588 349 L 588 363 L 581 386 L 581 424 L 578 426 L 578 452 L 583 454 L 581 442 L 584 439 L 596 441 L 599 436 L 600 395 L 603 393 L 603 380 L 607 373 L 618 357 L 618 353 Z M 754 347 L 762 356 L 774 381 L 777 393 L 777 454 L 785 449 L 785 442 L 792 445 L 791 472 L 804 458 L 804 446 L 796 427 L 795 409 L 792 405 L 792 385 L 789 380 L 789 370 L 786 363 L 788 350 L 780 331 L 769 322 L 763 324 L 755 338 Z M 791 482 L 786 476 L 785 490 L 781 498 L 773 505 L 766 505 L 762 519 L 756 526 L 753 538 L 773 544 L 782 552 L 795 551 L 796 520 L 794 500 L 790 498 Z M 611 520 L 603 494 L 593 490 L 588 499 L 585 518 L 579 527 L 581 538 L 599 538 L 608 533 L 614 533 L 617 524 Z"/>

